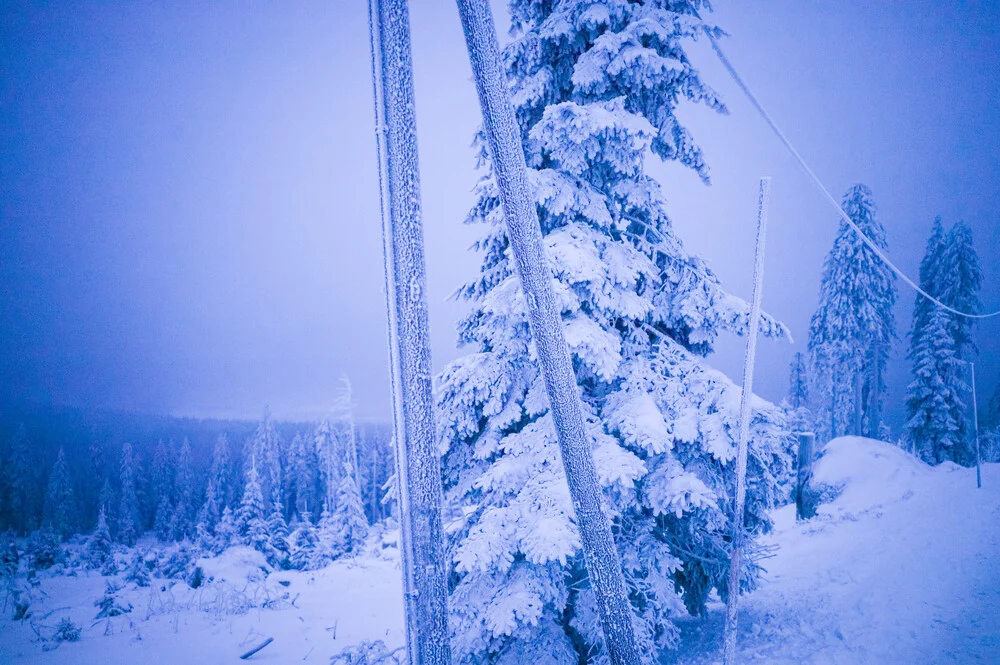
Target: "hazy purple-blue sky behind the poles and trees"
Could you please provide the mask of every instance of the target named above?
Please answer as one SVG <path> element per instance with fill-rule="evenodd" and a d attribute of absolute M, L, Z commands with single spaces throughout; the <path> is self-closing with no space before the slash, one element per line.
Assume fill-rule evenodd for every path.
<path fill-rule="evenodd" d="M 839 196 L 875 193 L 911 274 L 931 220 L 970 224 L 1000 307 L 1000 4 L 719 0 L 724 46 Z M 502 5 L 495 3 L 498 10 Z M 477 268 L 461 224 L 478 123 L 452 3 L 411 3 L 434 363 L 455 357 Z M 498 17 L 503 23 L 503 16 Z M 682 117 L 713 184 L 651 166 L 680 236 L 747 296 L 757 178 L 774 178 L 756 386 L 803 350 L 836 214 L 704 43 L 731 109 Z M 364 0 L 38 3 L 0 9 L 0 399 L 194 415 L 313 417 L 340 372 L 388 417 Z M 900 284 L 888 405 L 901 419 L 914 294 Z M 980 324 L 979 387 L 1000 322 Z M 713 362 L 739 379 L 742 341 Z"/>

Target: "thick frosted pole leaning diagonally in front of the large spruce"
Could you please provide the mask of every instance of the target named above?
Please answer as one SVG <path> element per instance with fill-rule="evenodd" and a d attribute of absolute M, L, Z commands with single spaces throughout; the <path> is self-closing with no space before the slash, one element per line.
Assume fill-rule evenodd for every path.
<path fill-rule="evenodd" d="M 487 0 L 458 0 L 458 11 L 479 93 L 507 237 L 528 304 L 531 337 L 549 396 L 590 586 L 597 598 L 604 644 L 613 665 L 638 665 L 632 609 L 625 593 L 611 522 L 601 508 L 601 487 L 590 436 L 584 427 L 576 375 L 552 289 L 552 271 L 545 257 L 538 212 L 528 185 L 521 132 L 500 64 L 493 13 Z"/>

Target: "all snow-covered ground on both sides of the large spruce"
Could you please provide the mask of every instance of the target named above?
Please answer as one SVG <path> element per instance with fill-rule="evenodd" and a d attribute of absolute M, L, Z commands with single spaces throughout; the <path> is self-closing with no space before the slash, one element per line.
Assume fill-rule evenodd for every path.
<path fill-rule="evenodd" d="M 1000 465 L 984 466 L 977 490 L 974 470 L 931 468 L 888 444 L 843 438 L 827 446 L 815 480 L 842 491 L 807 523 L 795 523 L 794 507 L 777 511 L 766 580 L 742 602 L 743 662 L 1000 663 Z M 240 662 L 273 636 L 250 662 L 326 664 L 362 640 L 402 644 L 395 558 L 266 579 L 257 563 L 234 549 L 202 562 L 214 581 L 199 589 L 128 585 L 119 598 L 132 612 L 96 623 L 106 578 L 42 573 L 32 603 L 39 630 L 66 616 L 83 628 L 81 640 L 51 649 L 6 608 L 0 663 Z M 255 607 L 233 613 L 248 603 Z M 680 650 L 663 661 L 718 662 L 721 610 L 716 603 L 685 620 Z"/>

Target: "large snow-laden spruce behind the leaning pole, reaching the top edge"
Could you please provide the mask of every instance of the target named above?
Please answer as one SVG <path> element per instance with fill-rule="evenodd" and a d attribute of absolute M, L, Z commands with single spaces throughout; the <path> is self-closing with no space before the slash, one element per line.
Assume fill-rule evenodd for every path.
<path fill-rule="evenodd" d="M 700 2 L 511 2 L 505 56 L 565 334 L 649 658 L 672 618 L 726 594 L 739 388 L 709 368 L 748 306 L 674 235 L 649 151 L 707 178 L 674 110 L 722 110 L 684 51 Z M 479 142 L 482 145 L 482 141 Z M 452 650 L 458 662 L 602 662 L 602 634 L 510 260 L 489 157 L 468 221 L 486 226 L 472 350 L 442 373 L 439 424 L 452 516 Z M 786 334 L 765 317 L 764 332 Z M 782 412 L 754 402 L 746 526 L 789 471 Z M 745 584 L 756 575 L 748 558 Z M 685 607 L 686 605 L 686 607 Z"/>

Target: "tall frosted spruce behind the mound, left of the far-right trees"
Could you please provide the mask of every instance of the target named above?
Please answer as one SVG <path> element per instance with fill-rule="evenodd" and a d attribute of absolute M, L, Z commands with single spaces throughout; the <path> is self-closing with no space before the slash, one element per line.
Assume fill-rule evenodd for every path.
<path fill-rule="evenodd" d="M 842 207 L 880 249 L 888 247 L 870 189 L 854 185 L 844 194 Z M 896 338 L 895 284 L 889 267 L 841 221 L 823 264 L 819 306 L 809 324 L 812 364 L 817 385 L 824 388 L 813 404 L 825 412 L 827 438 L 878 436 L 885 365 Z"/>

